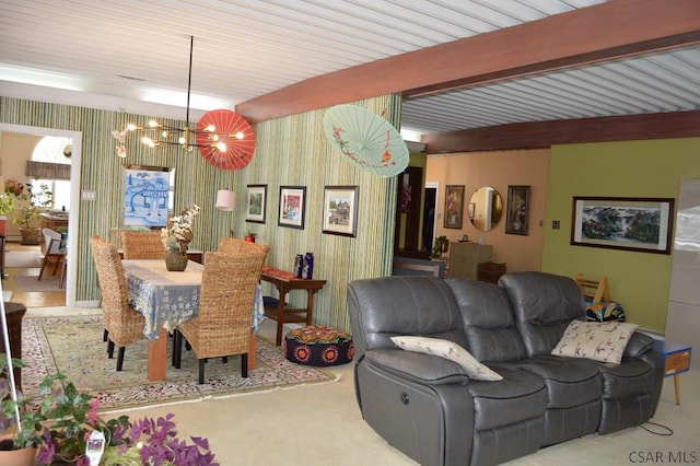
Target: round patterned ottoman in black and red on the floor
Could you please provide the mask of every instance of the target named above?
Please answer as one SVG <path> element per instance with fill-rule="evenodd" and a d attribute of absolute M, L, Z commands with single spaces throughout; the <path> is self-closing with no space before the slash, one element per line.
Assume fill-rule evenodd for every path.
<path fill-rule="evenodd" d="M 289 331 L 282 351 L 288 360 L 305 365 L 345 364 L 354 356 L 349 334 L 314 325 Z"/>

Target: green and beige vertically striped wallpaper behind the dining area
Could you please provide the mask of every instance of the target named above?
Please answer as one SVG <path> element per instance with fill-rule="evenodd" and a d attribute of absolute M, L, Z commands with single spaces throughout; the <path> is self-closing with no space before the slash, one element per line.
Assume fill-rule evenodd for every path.
<path fill-rule="evenodd" d="M 376 97 L 357 103 L 377 114 L 400 115 L 400 98 Z M 116 154 L 114 129 L 127 121 L 145 125 L 147 116 L 77 107 L 19 98 L 0 97 L 0 121 L 13 125 L 81 131 L 81 190 L 97 194 L 95 201 L 81 201 L 78 251 L 77 301 L 97 299 L 96 275 L 89 247 L 93 234 L 109 237 L 122 215 L 122 163 L 175 168 L 175 209 L 198 203 L 201 214 L 195 222 L 191 247 L 213 251 L 219 238 L 233 231 L 237 237 L 257 233 L 270 245 L 268 265 L 291 270 L 294 256 L 313 252 L 315 277 L 328 283 L 316 299 L 314 323 L 350 328 L 346 308 L 348 281 L 386 275 L 389 270 L 396 208 L 396 177 L 378 178 L 354 168 L 341 159 L 323 132 L 324 110 L 314 110 L 255 125 L 256 151 L 243 170 L 225 172 L 209 165 L 198 152 L 179 148 L 148 149 L 138 138 L 127 141 L 127 159 Z M 166 120 L 176 126 L 182 121 Z M 246 223 L 243 209 L 248 184 L 267 184 L 265 224 Z M 279 187 L 306 186 L 304 230 L 277 224 Z M 357 237 L 322 233 L 323 189 L 326 185 L 358 185 L 359 223 Z M 233 189 L 237 210 L 214 208 L 217 190 Z M 271 292 L 271 290 L 264 290 Z M 292 294 L 291 304 L 305 299 Z"/>

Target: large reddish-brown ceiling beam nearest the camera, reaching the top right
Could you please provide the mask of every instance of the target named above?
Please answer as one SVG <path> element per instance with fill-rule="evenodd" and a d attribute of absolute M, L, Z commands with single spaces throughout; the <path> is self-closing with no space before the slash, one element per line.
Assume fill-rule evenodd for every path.
<path fill-rule="evenodd" d="M 311 78 L 236 105 L 264 121 L 700 43 L 698 0 L 615 0 Z"/>

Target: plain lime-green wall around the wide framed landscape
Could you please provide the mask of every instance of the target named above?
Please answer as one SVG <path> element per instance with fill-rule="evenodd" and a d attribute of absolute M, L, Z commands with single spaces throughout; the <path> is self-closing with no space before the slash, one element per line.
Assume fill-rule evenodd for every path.
<path fill-rule="evenodd" d="M 700 178 L 700 138 L 552 147 L 542 270 L 607 276 L 611 299 L 622 303 L 628 322 L 664 333 L 672 255 L 571 245 L 572 198 L 677 199 L 681 178 Z M 560 230 L 552 229 L 556 220 Z"/>

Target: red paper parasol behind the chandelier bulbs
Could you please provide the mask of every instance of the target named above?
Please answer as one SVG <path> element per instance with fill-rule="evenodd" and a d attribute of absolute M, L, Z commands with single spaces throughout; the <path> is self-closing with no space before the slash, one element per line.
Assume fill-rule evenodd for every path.
<path fill-rule="evenodd" d="M 203 132 L 209 125 L 213 125 L 219 141 L 226 144 L 225 151 L 211 147 L 200 147 L 199 152 L 207 162 L 222 170 L 243 168 L 253 159 L 255 150 L 255 135 L 248 121 L 232 110 L 219 109 L 207 112 L 197 124 L 197 144 L 207 145 L 211 139 Z"/>

